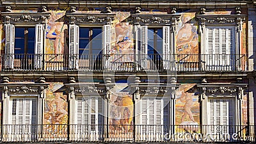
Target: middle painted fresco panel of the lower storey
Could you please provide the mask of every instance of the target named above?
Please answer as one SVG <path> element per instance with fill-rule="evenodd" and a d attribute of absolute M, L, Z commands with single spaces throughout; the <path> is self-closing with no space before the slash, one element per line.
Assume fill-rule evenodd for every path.
<path fill-rule="evenodd" d="M 133 102 L 132 95 L 125 90 L 128 84 L 116 83 L 109 104 L 109 136 L 116 138 L 132 138 Z M 124 135 L 125 134 L 125 135 Z"/>

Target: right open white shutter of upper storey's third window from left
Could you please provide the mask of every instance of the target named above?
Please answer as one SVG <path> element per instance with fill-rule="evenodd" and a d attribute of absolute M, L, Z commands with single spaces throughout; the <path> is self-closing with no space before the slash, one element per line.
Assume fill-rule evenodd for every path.
<path fill-rule="evenodd" d="M 163 66 L 170 70 L 170 26 L 163 27 Z"/>

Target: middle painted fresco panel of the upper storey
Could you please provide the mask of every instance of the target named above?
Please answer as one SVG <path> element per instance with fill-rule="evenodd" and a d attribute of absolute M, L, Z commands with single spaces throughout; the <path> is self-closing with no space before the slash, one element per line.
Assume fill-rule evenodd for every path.
<path fill-rule="evenodd" d="M 134 43 L 132 25 L 125 20 L 131 15 L 129 12 L 114 12 L 115 19 L 111 24 L 111 49 L 106 67 L 131 68 L 134 61 Z"/>

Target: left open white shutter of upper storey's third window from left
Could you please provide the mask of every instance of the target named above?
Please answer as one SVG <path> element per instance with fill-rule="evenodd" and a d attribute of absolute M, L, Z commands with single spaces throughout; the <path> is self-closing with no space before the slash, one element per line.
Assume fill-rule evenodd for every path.
<path fill-rule="evenodd" d="M 147 69 L 147 55 L 148 55 L 148 26 L 140 27 L 140 65 L 141 68 Z"/>

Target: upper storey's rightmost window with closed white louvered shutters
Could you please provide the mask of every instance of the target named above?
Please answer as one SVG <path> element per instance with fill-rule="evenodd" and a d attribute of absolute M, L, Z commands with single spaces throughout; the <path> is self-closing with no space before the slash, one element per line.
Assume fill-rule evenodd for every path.
<path fill-rule="evenodd" d="M 210 70 L 230 70 L 235 65 L 235 34 L 233 26 L 206 28 L 206 65 Z"/>

